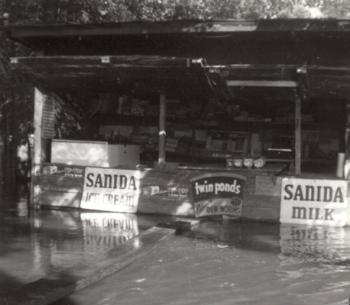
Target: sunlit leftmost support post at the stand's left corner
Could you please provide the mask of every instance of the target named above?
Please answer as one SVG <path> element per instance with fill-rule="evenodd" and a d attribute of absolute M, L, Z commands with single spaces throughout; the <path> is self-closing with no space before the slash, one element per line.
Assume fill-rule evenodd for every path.
<path fill-rule="evenodd" d="M 40 170 L 43 155 L 42 115 L 47 96 L 37 88 L 34 90 L 34 143 L 31 167 L 30 204 L 32 207 L 38 208 L 40 196 Z"/>

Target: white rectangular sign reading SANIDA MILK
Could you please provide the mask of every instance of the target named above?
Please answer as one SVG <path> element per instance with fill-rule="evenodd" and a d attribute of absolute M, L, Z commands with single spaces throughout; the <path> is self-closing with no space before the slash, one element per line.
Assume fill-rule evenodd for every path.
<path fill-rule="evenodd" d="M 282 223 L 345 226 L 348 222 L 348 182 L 283 178 Z"/>

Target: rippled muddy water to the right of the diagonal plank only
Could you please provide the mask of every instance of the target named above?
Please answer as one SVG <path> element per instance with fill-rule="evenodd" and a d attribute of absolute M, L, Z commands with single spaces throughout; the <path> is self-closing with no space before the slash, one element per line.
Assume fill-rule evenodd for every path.
<path fill-rule="evenodd" d="M 350 229 L 202 222 L 63 304 L 348 304 Z"/>

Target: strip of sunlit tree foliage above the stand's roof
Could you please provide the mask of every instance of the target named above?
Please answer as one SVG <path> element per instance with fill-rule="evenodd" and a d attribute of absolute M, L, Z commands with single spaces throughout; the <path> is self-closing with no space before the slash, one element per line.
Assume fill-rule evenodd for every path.
<path fill-rule="evenodd" d="M 131 20 L 347 18 L 347 0 L 0 0 L 11 23 Z"/>

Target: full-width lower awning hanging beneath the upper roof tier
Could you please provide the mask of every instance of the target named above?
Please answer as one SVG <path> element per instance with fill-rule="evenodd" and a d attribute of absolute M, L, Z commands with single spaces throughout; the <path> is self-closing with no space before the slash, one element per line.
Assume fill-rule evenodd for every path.
<path fill-rule="evenodd" d="M 242 88 L 281 91 L 303 85 L 310 97 L 345 98 L 350 94 L 350 67 L 212 66 L 201 58 L 144 55 L 14 57 L 11 67 L 26 71 L 30 81 L 56 92 L 164 92 L 174 97 L 218 94 L 232 98 Z"/>

